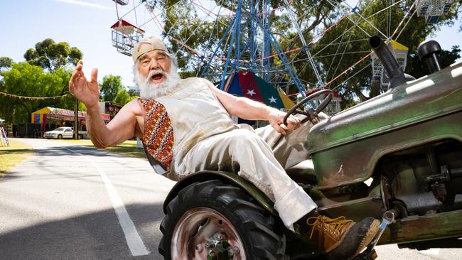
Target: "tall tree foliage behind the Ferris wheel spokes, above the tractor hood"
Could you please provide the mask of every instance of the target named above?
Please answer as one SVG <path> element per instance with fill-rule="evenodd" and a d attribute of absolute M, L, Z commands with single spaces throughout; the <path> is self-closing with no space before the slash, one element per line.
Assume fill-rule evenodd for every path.
<path fill-rule="evenodd" d="M 269 30 L 272 32 L 282 50 L 299 51 L 289 52 L 286 55 L 294 66 L 294 70 L 308 87 L 316 86 L 316 75 L 313 67 L 308 63 L 306 52 L 299 34 L 291 24 L 287 11 L 279 11 L 279 6 L 285 6 L 286 1 L 271 1 L 271 14 L 269 17 Z M 291 2 L 291 1 L 289 1 Z M 410 10 L 414 0 L 404 1 L 359 1 L 359 6 L 340 6 L 341 1 L 334 0 L 300 0 L 291 4 L 289 8 L 294 12 L 297 26 L 301 29 L 306 43 L 310 43 L 316 36 L 321 36 L 308 44 L 308 50 L 313 56 L 316 68 L 321 74 L 324 83 L 330 82 L 340 72 L 348 71 L 337 80 L 328 85 L 329 88 L 339 92 L 343 97 L 343 107 L 354 104 L 355 99 L 366 100 L 380 94 L 380 85 L 372 81 L 372 68 L 370 58 L 367 58 L 352 66 L 358 60 L 370 53 L 367 40 L 372 35 L 381 38 L 392 37 L 409 48 L 409 62 L 407 72 L 417 72 L 421 63 L 414 59 L 417 46 L 432 33 L 437 33 L 444 25 L 451 25 L 459 18 L 462 2 L 457 1 L 451 7 L 449 13 L 441 16 L 441 21 L 434 24 L 426 24 L 424 17 L 417 16 L 415 9 Z M 194 12 L 194 7 L 184 1 L 163 1 L 163 22 L 166 38 L 170 40 L 173 52 L 178 55 L 178 64 L 182 76 L 198 75 L 203 70 L 206 57 L 200 57 L 203 53 L 210 55 L 211 50 L 217 49 L 218 41 L 225 34 L 232 16 L 217 16 L 215 21 L 204 19 Z M 215 1 L 219 10 L 228 10 L 235 13 L 237 1 Z M 355 7 L 353 10 L 352 8 Z M 215 9 L 216 10 L 216 9 Z M 405 20 L 404 16 L 409 12 Z M 216 11 L 215 11 L 216 12 Z M 226 13 L 226 12 L 225 12 Z M 345 14 L 349 13 L 348 16 Z M 248 14 L 247 14 L 247 17 Z M 340 21 L 341 20 L 341 21 Z M 367 21 L 366 21 L 367 20 Z M 340 22 L 338 22 L 340 21 Z M 323 33 L 329 28 L 327 33 Z M 396 32 L 394 29 L 398 28 Z M 243 38 L 249 35 L 249 23 L 242 19 L 240 33 Z M 322 34 L 321 34 L 322 33 Z M 261 38 L 259 39 L 262 40 Z M 241 47 L 244 40 L 240 39 Z M 228 48 L 232 47 L 230 37 L 225 39 Z M 188 45 L 189 48 L 185 48 Z M 226 57 L 228 48 L 217 49 L 217 57 Z M 262 45 L 257 47 L 261 51 Z M 208 51 L 208 52 L 207 52 Z M 274 54 L 272 50 L 272 54 Z M 441 54 L 442 63 L 453 63 L 460 53 L 460 48 L 453 47 Z M 207 56 L 205 55 L 205 56 Z M 279 58 L 270 58 L 272 67 L 282 67 Z M 369 66 L 365 68 L 366 66 Z M 219 71 L 222 66 L 211 67 L 211 70 Z M 419 74 L 415 75 L 416 77 Z M 290 81 L 288 73 L 279 73 L 272 76 L 272 82 Z M 292 85 L 287 87 L 287 94 L 298 92 Z"/>

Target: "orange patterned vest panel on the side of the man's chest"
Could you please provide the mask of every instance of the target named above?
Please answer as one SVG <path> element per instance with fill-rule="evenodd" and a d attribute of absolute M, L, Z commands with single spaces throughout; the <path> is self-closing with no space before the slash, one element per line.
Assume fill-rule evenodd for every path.
<path fill-rule="evenodd" d="M 163 104 L 154 99 L 140 99 L 144 107 L 143 145 L 159 163 L 170 170 L 173 158 L 173 127 Z"/>

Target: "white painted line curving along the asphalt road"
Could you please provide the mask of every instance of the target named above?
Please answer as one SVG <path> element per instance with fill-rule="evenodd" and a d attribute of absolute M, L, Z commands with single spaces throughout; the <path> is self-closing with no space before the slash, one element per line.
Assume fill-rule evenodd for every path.
<path fill-rule="evenodd" d="M 98 167 L 95 161 L 93 161 L 88 156 L 84 156 L 83 154 L 78 153 L 77 151 L 73 151 L 69 148 L 66 149 L 72 151 L 72 153 L 77 153 L 78 155 L 83 156 L 87 161 L 89 161 L 92 164 L 93 167 L 96 168 L 98 173 L 100 173 L 102 181 L 106 186 L 106 190 L 109 195 L 109 200 L 111 200 L 112 202 L 112 207 L 114 207 L 114 211 L 116 212 L 120 226 L 122 227 L 122 231 L 124 232 L 125 239 L 127 240 L 127 244 L 131 251 L 131 255 L 145 256 L 146 254 L 149 254 L 148 249 L 146 249 L 146 246 L 144 246 L 143 240 L 141 240 L 141 237 L 139 237 L 139 234 L 136 231 L 136 227 L 133 224 L 133 221 L 131 221 L 131 218 L 129 216 L 129 213 L 127 212 L 127 209 L 124 206 L 124 203 L 120 199 L 117 190 L 114 188 L 114 185 L 112 185 L 111 180 L 109 180 L 107 174 L 104 173 L 104 170 Z"/>

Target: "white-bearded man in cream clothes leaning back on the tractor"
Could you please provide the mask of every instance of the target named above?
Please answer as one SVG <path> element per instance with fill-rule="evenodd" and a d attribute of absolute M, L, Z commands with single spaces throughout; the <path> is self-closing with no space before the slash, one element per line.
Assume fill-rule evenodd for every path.
<path fill-rule="evenodd" d="M 182 80 L 176 58 L 159 38 L 141 40 L 132 58 L 141 98 L 122 107 L 107 125 L 98 106 L 97 69 L 92 70 L 90 81 L 82 72 L 82 61 L 72 73 L 69 89 L 87 108 L 87 130 L 96 147 L 114 146 L 137 136 L 173 180 L 199 170 L 235 172 L 274 202 L 287 228 L 294 230 L 296 224 L 299 232 L 309 232 L 330 259 L 350 259 L 375 237 L 378 220 L 367 217 L 355 223 L 345 217 L 318 215 L 316 203 L 286 175 L 284 168 L 308 158 L 306 151 L 290 144 L 305 142 L 309 122 L 301 124 L 291 116 L 284 125 L 284 112 L 232 96 L 202 78 Z M 270 125 L 253 130 L 234 124 L 230 114 L 268 120 Z"/>

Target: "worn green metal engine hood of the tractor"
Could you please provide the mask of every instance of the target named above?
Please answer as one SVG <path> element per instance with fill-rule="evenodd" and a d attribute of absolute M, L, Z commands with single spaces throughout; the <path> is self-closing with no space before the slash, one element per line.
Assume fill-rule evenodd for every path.
<path fill-rule="evenodd" d="M 394 151 L 462 141 L 461 82 L 462 63 L 456 63 L 313 126 L 308 150 L 320 188 L 367 180 L 377 161 Z"/>

